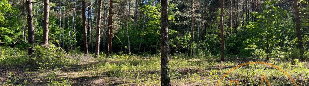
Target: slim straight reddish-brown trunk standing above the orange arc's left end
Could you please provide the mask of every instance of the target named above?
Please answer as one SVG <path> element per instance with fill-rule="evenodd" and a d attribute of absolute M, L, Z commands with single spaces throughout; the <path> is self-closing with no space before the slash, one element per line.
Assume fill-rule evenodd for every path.
<path fill-rule="evenodd" d="M 221 0 L 221 14 L 220 14 L 220 29 L 221 29 L 221 61 L 224 62 L 224 29 L 223 29 L 223 3 Z"/>

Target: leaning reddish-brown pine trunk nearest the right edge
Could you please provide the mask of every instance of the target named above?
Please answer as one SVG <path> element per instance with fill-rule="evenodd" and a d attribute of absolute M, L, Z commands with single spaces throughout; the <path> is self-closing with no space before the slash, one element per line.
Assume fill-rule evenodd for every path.
<path fill-rule="evenodd" d="M 297 39 L 298 39 L 298 46 L 300 49 L 300 57 L 303 58 L 304 54 L 304 46 L 303 46 L 303 39 L 302 39 L 302 32 L 300 30 L 300 18 L 299 18 L 299 12 L 298 12 L 298 0 L 294 1 L 294 13 L 295 13 L 295 23 L 296 23 L 296 33 L 297 33 Z"/>

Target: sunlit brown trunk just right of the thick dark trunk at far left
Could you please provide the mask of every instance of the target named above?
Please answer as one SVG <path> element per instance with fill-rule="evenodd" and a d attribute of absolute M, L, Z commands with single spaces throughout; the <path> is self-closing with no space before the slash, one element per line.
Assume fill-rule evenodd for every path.
<path fill-rule="evenodd" d="M 48 45 L 49 0 L 44 0 L 43 45 Z"/>

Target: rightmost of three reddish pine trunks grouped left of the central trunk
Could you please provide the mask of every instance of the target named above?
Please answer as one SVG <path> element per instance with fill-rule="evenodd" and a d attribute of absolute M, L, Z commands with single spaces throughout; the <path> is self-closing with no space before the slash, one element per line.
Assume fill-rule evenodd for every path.
<path fill-rule="evenodd" d="M 112 52 L 113 41 L 113 0 L 109 0 L 109 12 L 108 12 L 108 33 L 107 33 L 107 49 L 106 55 L 108 56 Z"/>

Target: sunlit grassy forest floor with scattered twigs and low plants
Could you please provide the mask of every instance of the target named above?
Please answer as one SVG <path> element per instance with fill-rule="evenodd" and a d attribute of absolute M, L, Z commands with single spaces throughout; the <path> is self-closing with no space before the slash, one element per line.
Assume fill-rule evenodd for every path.
<path fill-rule="evenodd" d="M 78 56 L 71 56 L 72 58 Z M 2 85 L 48 85 L 48 86 L 159 86 L 160 58 L 158 55 L 93 58 L 79 57 L 80 62 L 61 68 L 2 69 Z M 214 58 L 188 58 L 185 55 L 170 57 L 172 86 L 215 86 L 221 77 L 237 65 L 252 62 L 252 58 L 227 58 L 219 62 Z M 282 68 L 298 86 L 309 85 L 308 62 L 270 60 L 266 63 Z M 261 76 L 271 86 L 293 86 L 293 81 L 279 69 L 265 64 L 249 64 L 236 68 L 220 83 L 229 86 L 238 80 L 240 86 L 259 86 Z M 236 86 L 236 83 L 232 83 Z M 266 81 L 264 80 L 264 84 Z M 1 83 L 0 83 L 1 86 Z"/>

